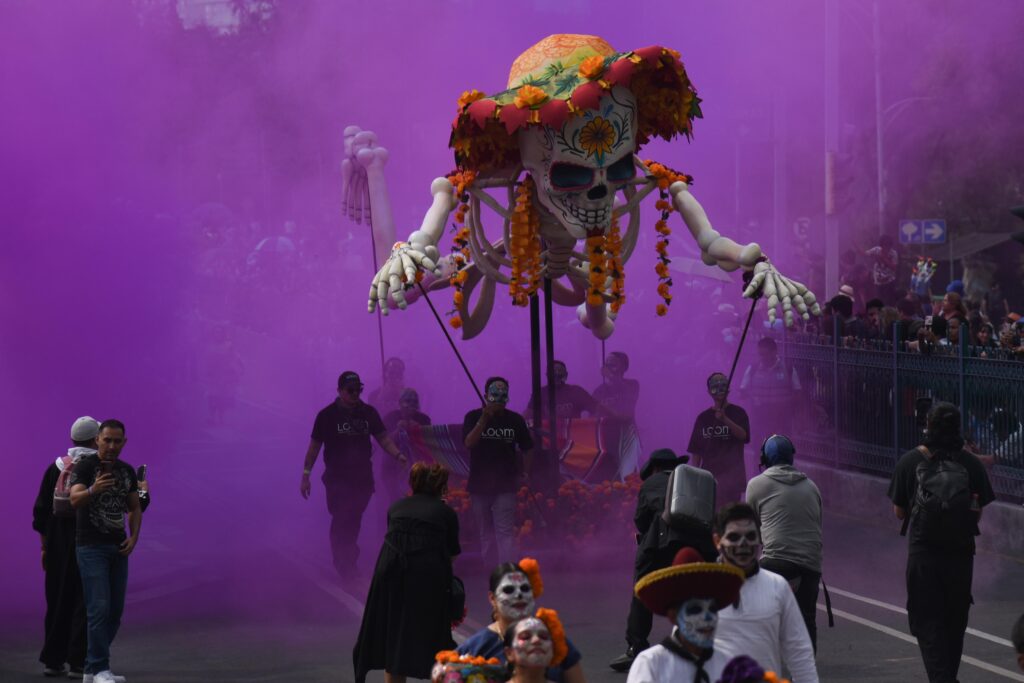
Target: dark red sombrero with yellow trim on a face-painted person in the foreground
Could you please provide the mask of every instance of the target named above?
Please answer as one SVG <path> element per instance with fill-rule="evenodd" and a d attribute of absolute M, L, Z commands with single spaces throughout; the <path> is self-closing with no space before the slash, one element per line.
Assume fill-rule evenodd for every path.
<path fill-rule="evenodd" d="M 672 566 L 656 569 L 637 582 L 636 596 L 655 614 L 666 614 L 692 598 L 714 598 L 718 608 L 739 597 L 743 571 L 731 564 L 705 562 L 696 550 L 683 548 Z"/>

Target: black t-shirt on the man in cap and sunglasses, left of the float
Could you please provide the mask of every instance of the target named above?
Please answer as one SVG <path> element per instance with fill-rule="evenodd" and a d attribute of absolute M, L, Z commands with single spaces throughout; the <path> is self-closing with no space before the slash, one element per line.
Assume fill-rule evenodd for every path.
<path fill-rule="evenodd" d="M 343 471 L 347 479 L 365 482 L 373 479 L 370 437 L 386 431 L 373 405 L 359 402 L 348 408 L 335 400 L 316 414 L 311 436 L 324 444 L 327 474 Z"/>

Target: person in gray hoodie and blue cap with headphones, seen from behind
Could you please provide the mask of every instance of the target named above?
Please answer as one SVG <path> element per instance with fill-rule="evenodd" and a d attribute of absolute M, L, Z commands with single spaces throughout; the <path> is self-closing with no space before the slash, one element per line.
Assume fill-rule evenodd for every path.
<path fill-rule="evenodd" d="M 746 484 L 746 503 L 761 520 L 761 566 L 781 574 L 793 588 L 815 652 L 815 618 L 821 581 L 821 493 L 793 466 L 797 450 L 788 437 L 772 434 L 761 444 L 764 471 Z"/>

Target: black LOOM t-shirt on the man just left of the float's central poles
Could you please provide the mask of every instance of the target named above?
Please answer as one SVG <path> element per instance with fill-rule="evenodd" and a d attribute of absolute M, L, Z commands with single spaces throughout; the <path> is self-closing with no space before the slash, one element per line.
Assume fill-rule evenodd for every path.
<path fill-rule="evenodd" d="M 483 409 L 479 408 L 466 414 L 462 423 L 463 440 L 473 431 L 481 415 Z M 506 409 L 490 418 L 480 440 L 469 450 L 469 482 L 466 485 L 469 493 L 493 496 L 514 492 L 519 474 L 516 446 L 519 451 L 528 451 L 534 447 L 534 439 L 522 416 Z"/>

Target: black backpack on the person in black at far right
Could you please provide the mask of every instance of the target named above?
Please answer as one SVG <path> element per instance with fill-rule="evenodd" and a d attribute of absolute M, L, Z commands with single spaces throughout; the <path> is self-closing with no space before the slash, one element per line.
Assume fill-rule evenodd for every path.
<path fill-rule="evenodd" d="M 910 510 L 913 540 L 925 545 L 959 548 L 970 545 L 977 528 L 971 477 L 947 454 L 922 447 L 925 459 L 915 470 L 918 485 Z"/>

